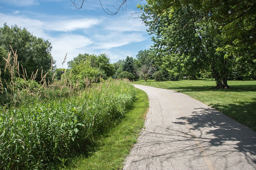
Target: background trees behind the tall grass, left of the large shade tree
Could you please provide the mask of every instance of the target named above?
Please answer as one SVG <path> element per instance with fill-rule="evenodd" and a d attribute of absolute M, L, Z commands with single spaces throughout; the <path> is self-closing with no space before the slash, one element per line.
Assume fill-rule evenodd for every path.
<path fill-rule="evenodd" d="M 119 60 L 111 64 L 107 54 L 78 54 L 71 61 L 68 61 L 68 68 L 57 68 L 55 60 L 51 55 L 52 45 L 48 40 L 37 38 L 27 29 L 17 25 L 8 26 L 6 23 L 0 27 L 0 71 L 3 82 L 11 81 L 8 69 L 6 69 L 6 61 L 8 53 L 16 51 L 18 54 L 17 76 L 22 75 L 21 79 L 29 79 L 35 76 L 33 80 L 40 82 L 45 76 L 45 80 L 51 82 L 60 80 L 63 76 L 68 77 L 74 86 L 80 84 L 83 86 L 84 78 L 93 79 L 97 82 L 100 79 L 126 78 L 130 81 L 137 80 L 140 77 L 140 68 L 144 70 L 144 76 L 148 74 L 148 69 L 152 70 L 153 65 L 149 56 L 149 50 L 140 51 L 137 55 L 138 59 L 127 56 L 125 60 Z M 66 58 L 65 58 L 66 60 Z M 15 61 L 8 61 L 13 63 Z M 65 61 L 63 61 L 65 62 Z M 146 72 L 145 72 L 146 70 Z M 147 74 L 146 74 L 147 73 Z M 41 75 L 40 75 L 41 74 Z M 147 76 L 145 76 L 147 80 Z M 19 79 L 20 80 L 20 79 Z M 20 80 L 21 81 L 21 80 Z"/>

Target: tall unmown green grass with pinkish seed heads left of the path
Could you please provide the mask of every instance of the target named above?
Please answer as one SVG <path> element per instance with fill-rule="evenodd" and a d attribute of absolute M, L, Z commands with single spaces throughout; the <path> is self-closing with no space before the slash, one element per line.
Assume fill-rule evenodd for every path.
<path fill-rule="evenodd" d="M 17 66 L 13 68 L 17 73 Z M 77 91 L 68 81 L 47 85 L 43 79 L 36 91 L 28 90 L 29 85 L 19 89 L 15 85 L 17 74 L 12 75 L 9 84 L 6 82 L 6 87 L 1 81 L 1 93 L 9 97 L 9 103 L 0 106 L 0 169 L 65 165 L 68 158 L 86 152 L 115 125 L 135 97 L 133 86 L 121 80 L 92 83 L 85 78 L 85 90 Z M 74 93 L 70 94 L 71 89 Z"/>

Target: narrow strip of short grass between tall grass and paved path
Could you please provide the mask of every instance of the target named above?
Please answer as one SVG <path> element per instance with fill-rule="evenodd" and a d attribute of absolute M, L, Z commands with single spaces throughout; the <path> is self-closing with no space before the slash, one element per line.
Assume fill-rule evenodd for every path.
<path fill-rule="evenodd" d="M 147 94 L 140 89 L 136 89 L 136 92 L 132 110 L 125 114 L 117 126 L 102 136 L 95 145 L 95 152 L 86 158 L 74 159 L 67 169 L 122 169 L 125 156 L 137 142 L 144 126 L 144 118 L 149 107 Z"/>

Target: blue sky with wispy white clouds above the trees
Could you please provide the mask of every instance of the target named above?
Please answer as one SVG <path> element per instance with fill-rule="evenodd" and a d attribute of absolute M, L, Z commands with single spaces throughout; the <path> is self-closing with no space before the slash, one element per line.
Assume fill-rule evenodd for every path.
<path fill-rule="evenodd" d="M 121 0 L 102 1 L 104 8 L 114 11 L 113 4 Z M 114 63 L 127 55 L 136 58 L 140 50 L 152 45 L 141 20 L 131 19 L 131 13 L 139 11 L 136 5 L 145 3 L 129 0 L 127 11 L 111 16 L 102 10 L 98 0 L 87 0 L 77 11 L 71 10 L 74 7 L 70 0 L 0 0 L 0 26 L 16 24 L 36 37 L 48 39 L 58 68 L 67 52 L 67 61 L 79 53 L 106 53 Z"/>

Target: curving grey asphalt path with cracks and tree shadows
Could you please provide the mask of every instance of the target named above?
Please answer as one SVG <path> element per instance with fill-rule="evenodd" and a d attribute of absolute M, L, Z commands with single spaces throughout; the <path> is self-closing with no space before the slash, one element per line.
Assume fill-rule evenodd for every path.
<path fill-rule="evenodd" d="M 255 132 L 187 95 L 134 86 L 150 107 L 124 170 L 256 169 Z"/>

